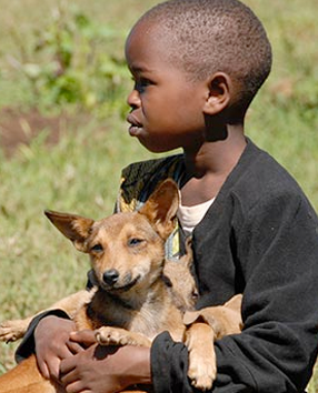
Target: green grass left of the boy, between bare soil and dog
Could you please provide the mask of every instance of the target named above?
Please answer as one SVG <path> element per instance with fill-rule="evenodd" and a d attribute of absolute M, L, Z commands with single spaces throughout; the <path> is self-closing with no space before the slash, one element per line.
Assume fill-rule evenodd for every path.
<path fill-rule="evenodd" d="M 92 122 L 68 130 L 49 151 L 38 139 L 1 162 L 0 321 L 33 313 L 86 284 L 87 256 L 58 233 L 43 210 L 96 219 L 112 212 L 120 169 L 147 157 L 129 144 L 120 125 L 100 129 Z M 0 344 L 0 371 L 11 364 L 9 349 Z"/>

